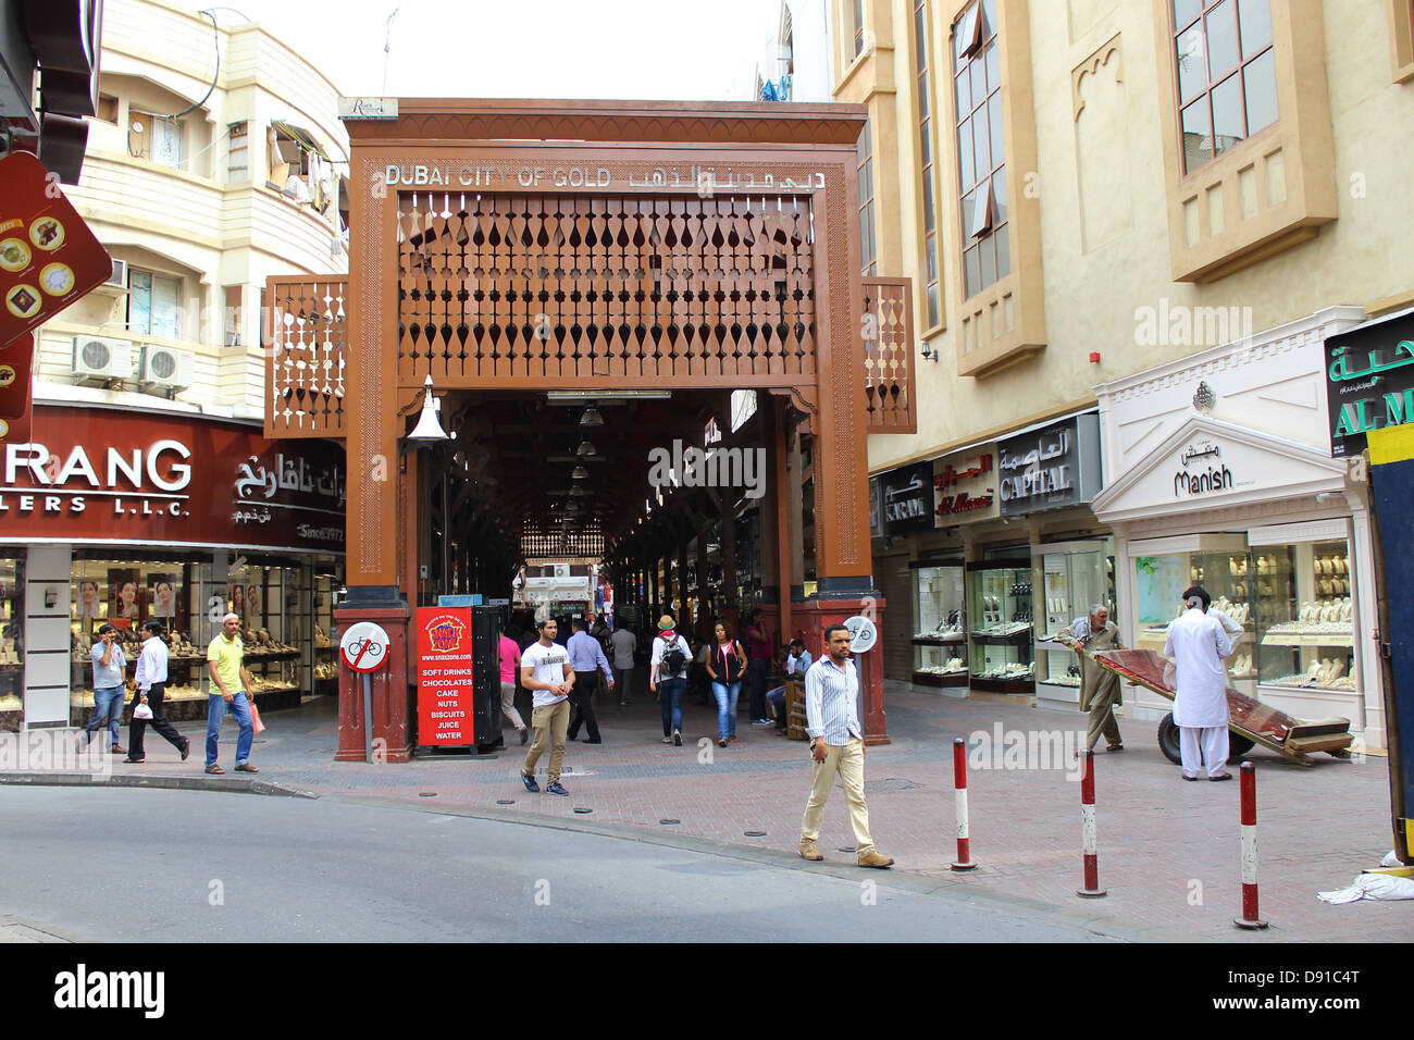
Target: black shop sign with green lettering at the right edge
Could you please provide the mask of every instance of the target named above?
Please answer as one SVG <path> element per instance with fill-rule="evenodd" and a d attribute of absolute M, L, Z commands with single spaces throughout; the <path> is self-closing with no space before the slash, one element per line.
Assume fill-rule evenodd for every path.
<path fill-rule="evenodd" d="M 1365 451 L 1365 434 L 1414 422 L 1414 314 L 1369 323 L 1325 342 L 1331 456 Z"/>

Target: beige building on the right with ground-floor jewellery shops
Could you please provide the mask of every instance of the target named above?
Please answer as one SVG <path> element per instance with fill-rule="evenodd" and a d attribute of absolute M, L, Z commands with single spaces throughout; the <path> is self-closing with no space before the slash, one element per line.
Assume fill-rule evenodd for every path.
<path fill-rule="evenodd" d="M 902 467 L 935 468 L 932 525 L 877 531 L 889 678 L 936 682 L 959 662 L 966 674 L 954 664 L 950 682 L 987 695 L 978 675 L 1029 665 L 1031 688 L 1008 692 L 1073 698 L 1045 637 L 1085 614 L 1082 599 L 1110 607 L 1134 645 L 1157 624 L 1140 620 L 1138 560 L 1165 574 L 1216 566 L 1165 563 L 1169 550 L 1198 552 L 1198 542 L 1144 545 L 1151 531 L 1176 536 L 1172 502 L 1145 512 L 1131 490 L 1134 508 L 1121 508 L 1113 488 L 1137 467 L 1172 470 L 1171 458 L 1150 458 L 1171 437 L 1217 443 L 1219 427 L 1200 429 L 1217 422 L 1236 427 L 1223 436 L 1256 437 L 1271 457 L 1324 473 L 1292 474 L 1266 494 L 1220 490 L 1226 512 L 1184 535 L 1208 533 L 1205 522 L 1232 535 L 1223 552 L 1234 580 L 1222 589 L 1234 608 L 1243 599 L 1244 638 L 1264 648 L 1247 654 L 1244 675 L 1263 700 L 1350 717 L 1370 746 L 1383 743 L 1377 668 L 1357 651 L 1362 640 L 1365 659 L 1374 649 L 1363 488 L 1329 458 L 1319 351 L 1324 337 L 1414 304 L 1414 258 L 1400 246 L 1414 204 L 1407 0 L 836 0 L 833 17 L 836 99 L 871 112 L 860 149 L 861 200 L 874 212 L 865 256 L 878 275 L 912 279 L 921 330 L 918 433 L 872 436 L 870 467 L 895 485 Z M 1164 403 L 1148 422 L 1151 392 Z M 1073 437 L 1099 424 L 1090 466 L 1103 490 L 1077 485 L 1052 495 L 1052 508 L 1011 498 L 1007 515 L 1010 475 L 1068 480 L 1056 423 L 1072 417 Z M 1039 437 L 1031 463 L 1018 451 L 1028 437 Z M 956 474 L 988 451 L 995 480 L 970 478 L 967 501 L 990 488 L 995 518 L 954 508 Z M 1048 451 L 1060 463 L 1049 477 Z M 1326 521 L 1335 526 L 1321 528 L 1318 549 L 1298 546 L 1288 560 L 1266 548 L 1274 526 Z M 981 566 L 1000 559 L 1015 569 Z M 1321 573 L 1328 562 L 1352 576 Z M 1280 594 L 1271 582 L 1236 580 L 1257 567 L 1282 570 Z M 1326 613 L 1342 600 L 1338 614 L 1350 600 L 1349 647 L 1298 652 L 1268 638 L 1301 623 L 1278 617 L 1278 600 L 1299 614 L 1321 597 Z M 1155 608 L 1145 603 L 1143 616 Z M 971 632 L 1029 623 L 1036 642 L 932 638 L 954 610 L 976 614 L 962 618 Z M 1319 678 L 1297 686 L 1311 668 Z"/>

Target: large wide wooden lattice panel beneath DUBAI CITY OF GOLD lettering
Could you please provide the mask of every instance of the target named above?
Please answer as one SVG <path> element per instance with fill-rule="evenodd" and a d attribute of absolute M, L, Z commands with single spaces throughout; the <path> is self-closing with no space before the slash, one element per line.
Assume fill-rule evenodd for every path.
<path fill-rule="evenodd" d="M 399 382 L 814 382 L 806 198 L 410 194 Z"/>

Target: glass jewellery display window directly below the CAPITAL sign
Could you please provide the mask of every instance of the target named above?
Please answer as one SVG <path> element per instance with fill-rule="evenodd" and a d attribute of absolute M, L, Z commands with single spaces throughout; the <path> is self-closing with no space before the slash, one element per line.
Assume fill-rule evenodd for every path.
<path fill-rule="evenodd" d="M 1089 621 L 1090 607 L 1104 607 L 1114 621 L 1114 550 L 1107 541 L 1039 545 L 1035 590 L 1036 682 L 1079 686 L 1079 661 L 1058 641 Z"/>

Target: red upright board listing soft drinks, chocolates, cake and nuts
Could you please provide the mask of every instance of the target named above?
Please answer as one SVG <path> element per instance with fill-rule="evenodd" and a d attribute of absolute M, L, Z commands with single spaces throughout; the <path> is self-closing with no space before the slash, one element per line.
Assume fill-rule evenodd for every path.
<path fill-rule="evenodd" d="M 471 747 L 471 607 L 417 608 L 417 743 Z"/>

